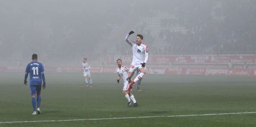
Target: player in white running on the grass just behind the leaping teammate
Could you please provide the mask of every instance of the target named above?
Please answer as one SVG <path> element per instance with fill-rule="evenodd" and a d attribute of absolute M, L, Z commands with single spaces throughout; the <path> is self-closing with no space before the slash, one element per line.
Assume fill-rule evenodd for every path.
<path fill-rule="evenodd" d="M 129 72 L 129 68 L 127 68 L 126 66 L 122 65 L 122 60 L 121 59 L 117 59 L 117 82 L 119 84 L 119 81 L 123 80 L 123 94 L 125 94 L 125 98 L 128 101 L 127 107 L 131 106 L 131 100 L 133 101 L 133 106 L 137 106 L 138 103 L 135 100 L 133 94 L 131 94 L 130 91 L 128 91 L 128 89 L 130 88 L 129 82 L 128 82 L 128 72 Z"/>

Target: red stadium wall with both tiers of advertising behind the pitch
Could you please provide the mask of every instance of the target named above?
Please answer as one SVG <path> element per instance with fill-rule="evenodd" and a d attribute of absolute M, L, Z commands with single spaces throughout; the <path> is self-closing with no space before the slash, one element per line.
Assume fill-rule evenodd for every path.
<path fill-rule="evenodd" d="M 91 65 L 91 73 L 115 73 L 115 59 L 121 58 L 123 62 L 130 63 L 131 56 L 120 55 L 115 57 L 106 57 L 106 61 L 112 65 L 94 66 Z M 232 59 L 233 63 L 244 63 L 255 66 L 256 55 L 151 55 L 150 63 L 147 66 L 148 74 L 169 74 L 178 76 L 249 76 L 256 77 L 256 69 L 227 69 L 218 64 L 227 64 Z M 156 64 L 154 64 L 156 63 Z M 180 67 L 162 67 L 162 63 L 180 63 L 185 66 Z M 188 67 L 188 64 L 200 65 L 196 68 Z M 201 64 L 205 65 L 204 67 Z M 208 66 L 210 65 L 210 66 Z M 48 73 L 82 73 L 81 66 L 45 66 Z M 0 67 L 0 72 L 24 72 L 24 68 Z"/>

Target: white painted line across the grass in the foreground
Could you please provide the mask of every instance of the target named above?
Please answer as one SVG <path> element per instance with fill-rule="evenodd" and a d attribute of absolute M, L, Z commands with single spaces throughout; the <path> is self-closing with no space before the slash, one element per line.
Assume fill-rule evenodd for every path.
<path fill-rule="evenodd" d="M 130 118 L 157 118 L 157 117 L 193 117 L 193 116 L 217 116 L 228 114 L 255 114 L 256 112 L 240 112 L 240 113 L 214 113 L 214 114 L 185 114 L 185 115 L 173 115 L 173 116 L 142 116 L 142 117 L 117 117 L 117 118 L 88 118 L 88 119 L 75 119 L 75 120 L 40 120 L 40 121 L 12 121 L 12 122 L 0 122 L 0 124 L 14 124 L 14 123 L 26 123 L 26 122 L 64 122 L 64 121 L 93 121 L 93 120 L 116 120 L 116 119 L 130 119 Z"/>

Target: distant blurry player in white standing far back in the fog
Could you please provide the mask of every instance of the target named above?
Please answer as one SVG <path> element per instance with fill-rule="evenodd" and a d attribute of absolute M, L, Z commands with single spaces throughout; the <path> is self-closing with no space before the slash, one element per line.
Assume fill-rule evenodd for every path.
<path fill-rule="evenodd" d="M 83 59 L 83 76 L 84 76 L 84 82 L 86 83 L 87 86 L 90 85 L 90 87 L 92 87 L 92 78 L 91 78 L 91 74 L 90 74 L 90 65 L 87 63 L 87 58 Z M 87 81 L 87 78 L 89 80 L 89 82 Z"/>

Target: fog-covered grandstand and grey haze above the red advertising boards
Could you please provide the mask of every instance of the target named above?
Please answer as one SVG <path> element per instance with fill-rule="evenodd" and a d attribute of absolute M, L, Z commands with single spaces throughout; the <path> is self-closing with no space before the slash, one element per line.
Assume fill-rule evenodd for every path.
<path fill-rule="evenodd" d="M 149 55 L 255 54 L 256 1 L 0 1 L 0 65 L 80 66 L 131 55 L 130 30 Z M 134 41 L 135 36 L 130 38 Z"/>

